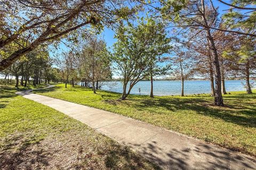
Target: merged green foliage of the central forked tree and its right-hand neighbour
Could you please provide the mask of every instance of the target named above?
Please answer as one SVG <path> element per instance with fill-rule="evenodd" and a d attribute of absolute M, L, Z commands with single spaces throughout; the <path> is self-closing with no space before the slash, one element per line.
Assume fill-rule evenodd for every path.
<path fill-rule="evenodd" d="M 171 48 L 164 22 L 141 17 L 134 25 L 120 23 L 116 32 L 113 62 L 124 80 L 137 83 L 152 72 L 163 72 L 158 57 Z"/>

